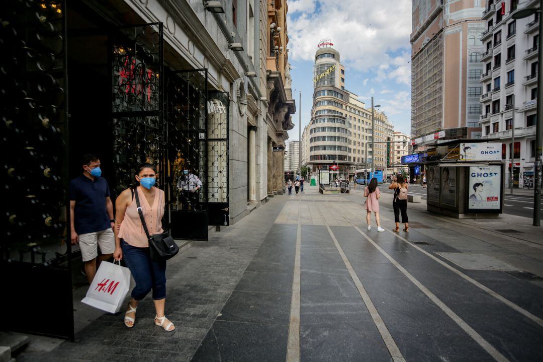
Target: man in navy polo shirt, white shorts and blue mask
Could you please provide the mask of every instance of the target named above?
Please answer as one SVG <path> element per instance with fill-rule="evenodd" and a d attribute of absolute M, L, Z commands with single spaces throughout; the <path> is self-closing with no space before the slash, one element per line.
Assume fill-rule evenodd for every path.
<path fill-rule="evenodd" d="M 91 284 L 100 261 L 109 259 L 115 251 L 115 220 L 108 182 L 100 177 L 100 160 L 86 154 L 81 164 L 83 174 L 70 181 L 71 239 L 72 245 L 79 244 Z M 99 258 L 98 246 L 102 253 Z"/>

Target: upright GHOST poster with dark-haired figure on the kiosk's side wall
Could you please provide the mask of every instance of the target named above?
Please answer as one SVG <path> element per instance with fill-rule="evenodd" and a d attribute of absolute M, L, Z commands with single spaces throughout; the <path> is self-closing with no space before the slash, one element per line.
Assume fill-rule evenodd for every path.
<path fill-rule="evenodd" d="M 468 182 L 469 210 L 500 210 L 501 166 L 471 166 Z"/>

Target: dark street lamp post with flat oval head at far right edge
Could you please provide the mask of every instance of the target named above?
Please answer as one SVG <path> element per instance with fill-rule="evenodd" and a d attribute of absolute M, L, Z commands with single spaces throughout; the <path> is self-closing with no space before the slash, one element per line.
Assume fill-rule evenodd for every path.
<path fill-rule="evenodd" d="M 517 10 L 513 18 L 521 19 L 539 13 L 539 36 L 538 36 L 538 107 L 537 123 L 535 125 L 535 172 L 534 172 L 534 217 L 533 226 L 541 225 L 541 155 L 543 153 L 543 61 L 541 61 L 541 49 L 543 48 L 543 19 L 541 19 L 541 9 L 543 9 L 543 0 L 539 0 L 539 9 L 527 8 Z"/>

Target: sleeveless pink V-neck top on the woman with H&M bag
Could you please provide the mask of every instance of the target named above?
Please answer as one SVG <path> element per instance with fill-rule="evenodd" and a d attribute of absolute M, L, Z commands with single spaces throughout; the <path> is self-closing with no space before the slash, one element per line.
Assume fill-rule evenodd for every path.
<path fill-rule="evenodd" d="M 164 191 L 155 188 L 155 201 L 153 202 L 153 205 L 149 205 L 143 192 L 140 190 L 140 187 L 137 187 L 136 189 L 140 196 L 143 218 L 147 224 L 149 234 L 163 233 L 162 216 L 164 216 Z M 121 228 L 119 229 L 119 238 L 124 239 L 124 241 L 131 246 L 138 248 L 149 247 L 147 236 L 141 224 L 140 215 L 137 212 L 136 197 L 132 198 L 132 202 L 124 213 L 124 219 L 123 222 L 121 222 Z"/>

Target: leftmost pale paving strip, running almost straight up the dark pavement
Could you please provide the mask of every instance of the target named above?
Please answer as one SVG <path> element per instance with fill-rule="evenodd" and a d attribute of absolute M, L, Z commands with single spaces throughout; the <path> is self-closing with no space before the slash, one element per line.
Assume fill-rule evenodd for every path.
<path fill-rule="evenodd" d="M 300 361 L 300 254 L 302 239 L 301 200 L 298 202 L 298 230 L 296 231 L 296 253 L 294 279 L 292 282 L 291 318 L 288 324 L 287 362 Z"/>

